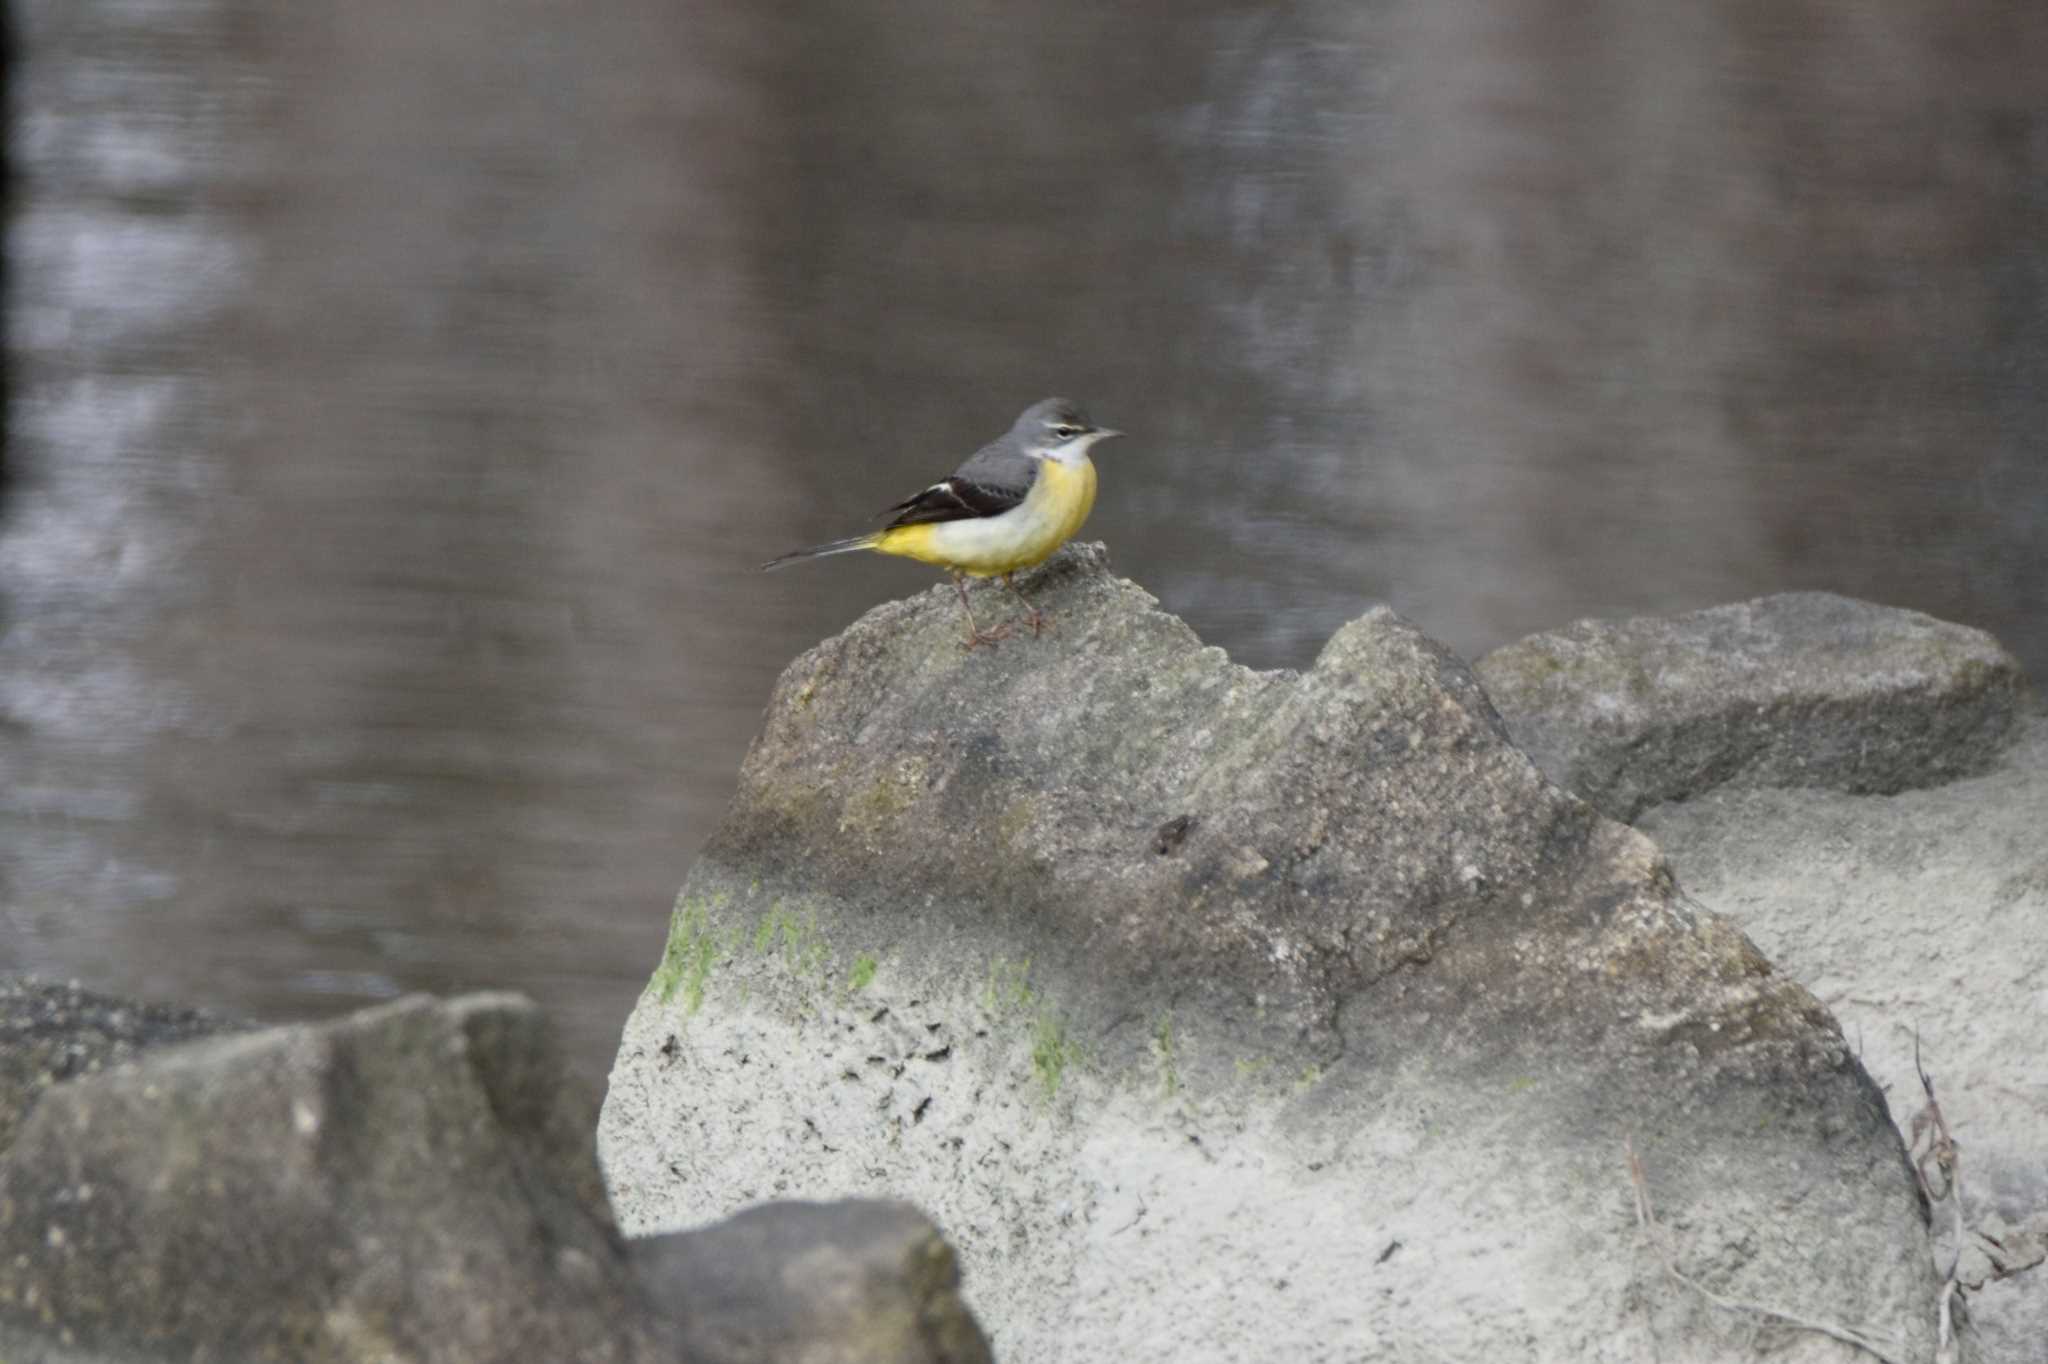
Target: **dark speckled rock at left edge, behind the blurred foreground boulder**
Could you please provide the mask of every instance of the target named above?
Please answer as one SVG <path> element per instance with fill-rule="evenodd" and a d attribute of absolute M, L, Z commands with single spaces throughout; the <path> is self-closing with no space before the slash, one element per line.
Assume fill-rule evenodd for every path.
<path fill-rule="evenodd" d="M 248 1024 L 172 1004 L 137 1004 L 78 985 L 0 977 L 0 1151 L 43 1090 L 154 1047 L 190 1042 Z"/>

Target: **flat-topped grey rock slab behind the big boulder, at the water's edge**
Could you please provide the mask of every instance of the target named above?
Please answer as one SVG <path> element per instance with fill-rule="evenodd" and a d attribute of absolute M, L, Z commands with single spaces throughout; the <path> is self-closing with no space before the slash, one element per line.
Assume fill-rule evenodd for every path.
<path fill-rule="evenodd" d="M 1882 793 L 1980 772 L 2025 692 L 1991 635 L 1827 592 L 1577 621 L 1475 672 L 1536 766 L 1616 819 L 1724 782 Z"/>

